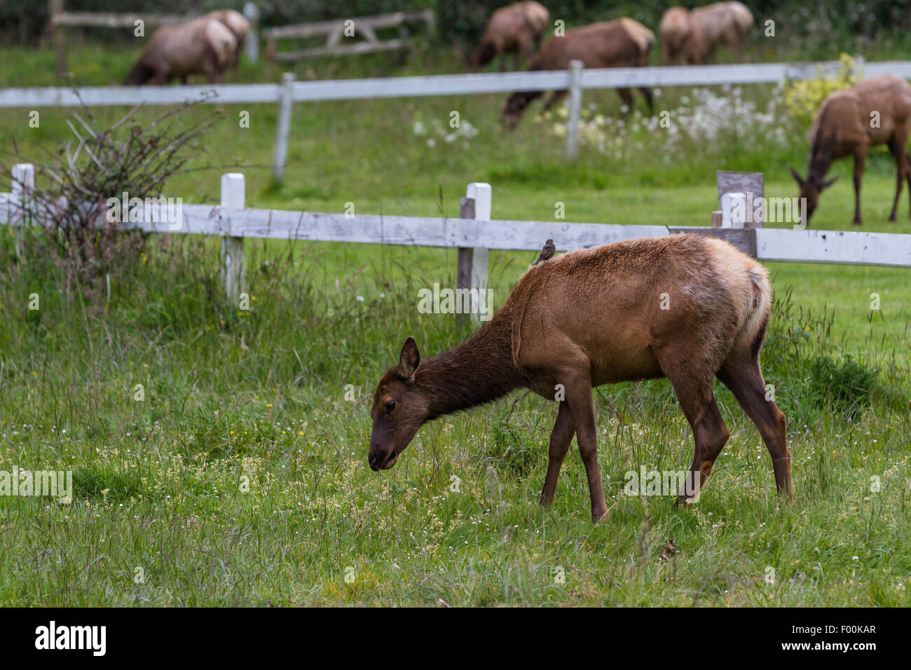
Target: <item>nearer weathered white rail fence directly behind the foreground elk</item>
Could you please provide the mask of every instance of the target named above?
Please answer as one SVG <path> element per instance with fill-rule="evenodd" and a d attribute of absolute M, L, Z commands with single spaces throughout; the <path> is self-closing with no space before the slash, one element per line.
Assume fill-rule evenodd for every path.
<path fill-rule="evenodd" d="M 46 217 L 29 199 L 35 188 L 34 167 L 16 165 L 13 174 L 13 192 L 0 193 L 0 223 L 43 224 Z M 556 242 L 559 251 L 570 251 L 680 232 L 732 242 L 745 236 L 749 251 L 761 261 L 911 268 L 911 234 L 492 220 L 490 185 L 478 182 L 468 184 L 462 218 L 453 219 L 251 209 L 245 207 L 244 178 L 239 173 L 222 175 L 220 205 L 183 205 L 175 222 L 162 213 L 164 206 L 145 204 L 134 212 L 137 221 L 121 225 L 127 230 L 220 236 L 222 279 L 230 300 L 243 290 L 243 241 L 248 237 L 457 248 L 458 287 L 478 289 L 475 297 L 486 289 L 489 249 L 535 252 L 548 239 Z M 478 314 L 476 309 L 473 314 Z"/>

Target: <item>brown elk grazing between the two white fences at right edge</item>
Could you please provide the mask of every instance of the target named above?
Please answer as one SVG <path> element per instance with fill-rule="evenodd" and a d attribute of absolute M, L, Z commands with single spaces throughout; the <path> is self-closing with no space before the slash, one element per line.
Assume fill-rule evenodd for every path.
<path fill-rule="evenodd" d="M 911 158 L 907 154 L 911 134 L 911 86 L 899 77 L 883 75 L 860 81 L 850 88 L 835 91 L 823 100 L 810 129 L 810 164 L 804 180 L 797 170 L 791 174 L 806 198 L 804 223 L 819 204 L 819 194 L 834 182 L 825 173 L 834 160 L 854 156 L 855 216 L 861 225 L 860 184 L 864 177 L 866 152 L 872 146 L 885 144 L 896 160 L 896 198 L 889 221 L 896 220 L 902 183 L 911 191 Z"/>

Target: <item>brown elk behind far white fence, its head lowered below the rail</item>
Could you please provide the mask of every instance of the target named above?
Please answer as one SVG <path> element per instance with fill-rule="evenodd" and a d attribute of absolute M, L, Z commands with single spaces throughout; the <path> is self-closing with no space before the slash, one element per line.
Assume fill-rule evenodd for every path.
<path fill-rule="evenodd" d="M 580 60 L 585 67 L 642 67 L 649 63 L 654 42 L 655 36 L 647 27 L 631 18 L 619 18 L 568 30 L 564 36 L 554 37 L 532 58 L 528 69 L 564 70 L 569 67 L 570 60 Z M 651 91 L 645 87 L 640 91 L 651 113 Z M 627 108 L 631 109 L 630 89 L 618 88 L 617 92 Z M 553 108 L 566 94 L 565 90 L 551 93 L 542 111 Z M 513 93 L 500 112 L 507 128 L 516 128 L 531 101 L 542 95 L 541 91 Z"/>

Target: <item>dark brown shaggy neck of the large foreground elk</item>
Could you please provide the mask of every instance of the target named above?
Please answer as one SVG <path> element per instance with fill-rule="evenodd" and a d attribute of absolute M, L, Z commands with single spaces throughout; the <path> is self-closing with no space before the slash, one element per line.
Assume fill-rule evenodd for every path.
<path fill-rule="evenodd" d="M 427 398 L 428 420 L 526 386 L 526 376 L 513 362 L 510 322 L 502 311 L 461 345 L 421 362 L 415 384 Z"/>

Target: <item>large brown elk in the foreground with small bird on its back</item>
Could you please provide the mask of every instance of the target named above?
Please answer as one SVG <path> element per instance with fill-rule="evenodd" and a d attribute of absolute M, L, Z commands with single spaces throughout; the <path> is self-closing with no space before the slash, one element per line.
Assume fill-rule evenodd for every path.
<path fill-rule="evenodd" d="M 415 340 L 405 340 L 398 366 L 376 387 L 368 463 L 392 468 L 427 421 L 528 387 L 559 400 L 542 504 L 554 499 L 575 434 L 598 521 L 607 505 L 592 387 L 668 377 L 693 431 L 691 482 L 701 486 L 729 436 L 715 403 L 717 376 L 759 428 L 778 490 L 792 497 L 784 415 L 766 398 L 759 367 L 771 303 L 763 266 L 701 235 L 551 258 L 528 270 L 494 317 L 454 349 L 422 360 Z"/>

